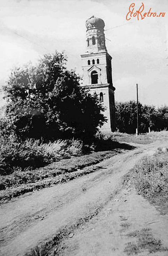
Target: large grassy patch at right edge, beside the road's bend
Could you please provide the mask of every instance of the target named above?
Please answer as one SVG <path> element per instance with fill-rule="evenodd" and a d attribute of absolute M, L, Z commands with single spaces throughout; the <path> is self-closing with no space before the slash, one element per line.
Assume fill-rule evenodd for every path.
<path fill-rule="evenodd" d="M 143 159 L 134 169 L 134 184 L 138 194 L 168 212 L 168 152 L 161 150 Z"/>

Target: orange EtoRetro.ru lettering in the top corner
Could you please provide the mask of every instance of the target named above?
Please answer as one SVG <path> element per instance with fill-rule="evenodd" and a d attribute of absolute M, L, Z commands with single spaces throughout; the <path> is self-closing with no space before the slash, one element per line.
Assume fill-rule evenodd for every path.
<path fill-rule="evenodd" d="M 151 9 L 149 10 L 149 12 L 147 13 L 147 12 L 145 12 L 144 14 L 143 14 L 143 11 L 144 11 L 144 4 L 142 3 L 142 5 L 141 5 L 141 7 L 139 8 L 139 10 L 138 11 L 136 11 L 136 12 L 134 12 L 134 7 L 135 6 L 135 4 L 131 4 L 130 5 L 130 7 L 129 7 L 129 12 L 127 13 L 127 15 L 126 15 L 126 20 L 130 20 L 132 17 L 136 17 L 137 16 L 137 18 L 138 18 L 138 20 L 139 20 L 139 18 L 141 18 L 141 20 L 143 20 L 143 19 L 145 19 L 145 17 L 164 17 L 165 16 L 165 12 L 164 13 L 160 13 L 159 15 L 157 15 L 156 14 L 156 12 L 151 12 Z M 152 15 L 153 14 L 153 15 Z M 147 16 L 146 16 L 147 15 Z M 149 16 L 150 15 L 150 16 Z"/>

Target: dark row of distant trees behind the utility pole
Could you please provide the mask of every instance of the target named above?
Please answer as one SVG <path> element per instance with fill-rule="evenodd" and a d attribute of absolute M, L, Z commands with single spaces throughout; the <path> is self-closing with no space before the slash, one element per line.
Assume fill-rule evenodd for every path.
<path fill-rule="evenodd" d="M 139 131 L 160 131 L 168 129 L 168 107 L 156 108 L 139 103 Z M 137 103 L 135 101 L 116 103 L 116 126 L 119 132 L 135 133 L 137 128 Z"/>

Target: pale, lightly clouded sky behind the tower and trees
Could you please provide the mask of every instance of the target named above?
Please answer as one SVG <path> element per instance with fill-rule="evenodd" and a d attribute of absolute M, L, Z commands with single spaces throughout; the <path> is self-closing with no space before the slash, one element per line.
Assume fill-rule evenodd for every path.
<path fill-rule="evenodd" d="M 142 2 L 143 13 L 152 8 L 165 16 L 127 21 L 130 5 L 136 12 Z M 0 0 L 0 87 L 13 67 L 55 50 L 64 51 L 68 69 L 82 76 L 85 21 L 92 15 L 105 22 L 115 100 L 136 100 L 138 83 L 141 103 L 168 105 L 168 0 Z"/>

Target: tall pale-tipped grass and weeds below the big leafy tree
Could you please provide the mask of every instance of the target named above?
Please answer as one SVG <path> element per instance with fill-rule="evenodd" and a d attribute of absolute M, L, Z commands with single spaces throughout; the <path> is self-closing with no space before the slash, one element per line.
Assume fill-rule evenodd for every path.
<path fill-rule="evenodd" d="M 39 140 L 20 141 L 15 135 L 0 137 L 0 175 L 14 170 L 35 169 L 46 164 L 79 156 L 82 142 L 78 140 L 58 140 L 41 143 Z"/>

